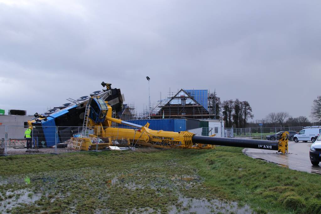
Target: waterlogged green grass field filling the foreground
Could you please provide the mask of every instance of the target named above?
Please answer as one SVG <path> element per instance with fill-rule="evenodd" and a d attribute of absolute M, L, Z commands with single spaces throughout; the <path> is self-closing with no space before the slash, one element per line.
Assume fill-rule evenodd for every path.
<path fill-rule="evenodd" d="M 319 175 L 241 148 L 7 156 L 0 172 L 1 207 L 11 213 L 189 213 L 200 200 L 210 212 L 233 213 L 215 199 L 248 213 L 321 213 Z"/>

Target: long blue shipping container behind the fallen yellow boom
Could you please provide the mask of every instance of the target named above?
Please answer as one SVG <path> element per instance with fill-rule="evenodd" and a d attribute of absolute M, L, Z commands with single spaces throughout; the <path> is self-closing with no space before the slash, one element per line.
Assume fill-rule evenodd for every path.
<path fill-rule="evenodd" d="M 186 131 L 186 119 L 132 119 L 125 120 L 130 123 L 145 126 L 150 123 L 149 128 L 153 130 L 180 132 Z M 129 128 L 124 124 L 118 124 L 118 127 Z"/>

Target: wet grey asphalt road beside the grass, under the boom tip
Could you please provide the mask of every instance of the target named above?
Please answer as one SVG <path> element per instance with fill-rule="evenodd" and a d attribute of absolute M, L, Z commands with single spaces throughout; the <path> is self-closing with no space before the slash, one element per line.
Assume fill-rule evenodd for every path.
<path fill-rule="evenodd" d="M 290 169 L 316 173 L 321 175 L 321 163 L 313 166 L 309 159 L 309 150 L 312 142 L 295 143 L 289 141 L 289 154 L 278 154 L 276 151 L 263 149 L 244 149 L 243 152 L 252 158 L 273 162 Z"/>

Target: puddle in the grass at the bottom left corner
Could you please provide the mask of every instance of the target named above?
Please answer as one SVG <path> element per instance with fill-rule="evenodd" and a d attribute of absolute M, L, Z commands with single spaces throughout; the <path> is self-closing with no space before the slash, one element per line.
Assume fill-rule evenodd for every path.
<path fill-rule="evenodd" d="M 0 212 L 7 213 L 7 210 L 12 209 L 20 203 L 33 203 L 40 199 L 41 193 L 33 193 L 29 190 L 16 190 L 14 192 L 7 191 L 6 196 L 9 197 L 6 200 L 1 202 Z M 10 213 L 10 212 L 9 212 Z"/>

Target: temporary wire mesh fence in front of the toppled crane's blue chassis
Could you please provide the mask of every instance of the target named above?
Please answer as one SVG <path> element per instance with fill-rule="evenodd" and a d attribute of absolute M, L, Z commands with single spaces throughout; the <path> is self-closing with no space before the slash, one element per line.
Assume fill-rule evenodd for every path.
<path fill-rule="evenodd" d="M 26 137 L 27 128 L 0 126 L 0 155 L 101 151 L 110 150 L 110 144 L 116 148 L 115 146 L 131 147 L 137 143 L 130 142 L 126 136 L 120 135 L 90 137 L 89 134 L 93 134 L 97 127 L 87 127 L 83 130 L 82 127 L 36 126 L 32 128 L 30 137 Z M 86 138 L 86 144 L 82 144 L 78 137 Z"/>

